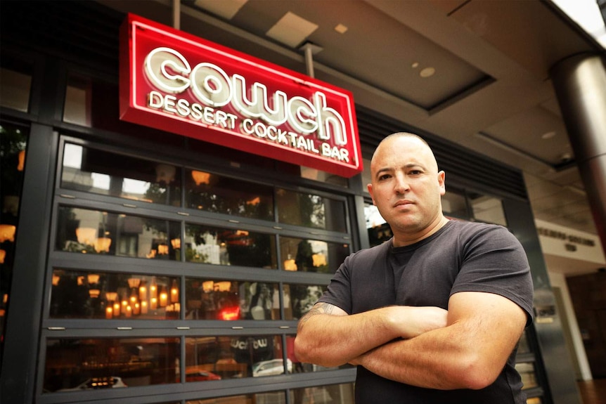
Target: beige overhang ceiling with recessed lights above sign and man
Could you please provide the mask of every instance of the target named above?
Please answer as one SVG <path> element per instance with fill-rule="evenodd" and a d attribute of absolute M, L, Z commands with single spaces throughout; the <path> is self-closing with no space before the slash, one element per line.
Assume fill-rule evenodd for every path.
<path fill-rule="evenodd" d="M 99 2 L 173 25 L 169 0 Z M 299 72 L 314 44 L 317 79 L 517 167 L 536 219 L 597 233 L 549 70 L 604 48 L 551 1 L 182 0 L 179 15 L 181 30 Z"/>

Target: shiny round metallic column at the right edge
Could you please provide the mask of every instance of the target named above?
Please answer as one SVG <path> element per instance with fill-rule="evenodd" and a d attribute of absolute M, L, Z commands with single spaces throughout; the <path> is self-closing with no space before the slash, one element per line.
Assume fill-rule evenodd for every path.
<path fill-rule="evenodd" d="M 606 56 L 571 56 L 550 74 L 606 254 Z"/>

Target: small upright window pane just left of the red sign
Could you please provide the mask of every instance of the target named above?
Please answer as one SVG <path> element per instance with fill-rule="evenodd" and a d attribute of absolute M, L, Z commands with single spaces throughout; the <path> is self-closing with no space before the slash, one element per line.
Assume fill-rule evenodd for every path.
<path fill-rule="evenodd" d="M 91 79 L 70 74 L 65 89 L 63 121 L 91 126 Z"/>

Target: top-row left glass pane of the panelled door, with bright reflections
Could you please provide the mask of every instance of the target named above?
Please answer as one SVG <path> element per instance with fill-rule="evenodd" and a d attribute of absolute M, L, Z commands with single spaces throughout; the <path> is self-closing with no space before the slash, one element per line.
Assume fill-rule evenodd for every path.
<path fill-rule="evenodd" d="M 61 187 L 179 207 L 179 173 L 171 164 L 66 143 Z"/>

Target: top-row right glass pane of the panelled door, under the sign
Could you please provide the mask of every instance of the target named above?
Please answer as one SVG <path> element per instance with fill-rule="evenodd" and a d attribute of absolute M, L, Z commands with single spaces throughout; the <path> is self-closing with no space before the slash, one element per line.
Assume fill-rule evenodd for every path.
<path fill-rule="evenodd" d="M 281 223 L 346 232 L 345 204 L 327 197 L 291 190 L 276 190 Z"/>

